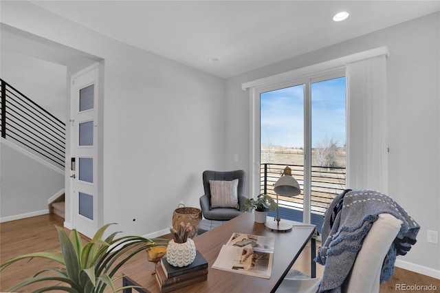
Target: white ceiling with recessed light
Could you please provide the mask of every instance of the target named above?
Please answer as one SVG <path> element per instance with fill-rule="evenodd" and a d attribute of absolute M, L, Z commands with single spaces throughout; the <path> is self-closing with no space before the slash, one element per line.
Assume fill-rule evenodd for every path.
<path fill-rule="evenodd" d="M 32 3 L 118 41 L 222 78 L 415 19 L 440 8 L 439 0 Z M 349 19 L 339 23 L 332 21 L 333 14 L 342 10 L 350 13 Z M 210 57 L 219 61 L 211 62 Z"/>

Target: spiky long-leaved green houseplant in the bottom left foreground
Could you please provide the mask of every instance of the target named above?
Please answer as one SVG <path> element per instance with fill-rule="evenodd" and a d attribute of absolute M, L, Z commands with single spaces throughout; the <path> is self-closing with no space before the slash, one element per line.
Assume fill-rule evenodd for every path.
<path fill-rule="evenodd" d="M 114 223 L 113 223 L 114 224 Z M 166 246 L 168 239 L 146 239 L 140 236 L 124 236 L 115 239 L 119 232 L 114 232 L 106 239 L 102 239 L 105 230 L 112 224 L 102 226 L 85 245 L 82 244 L 78 231 L 72 230 L 70 235 L 61 227 L 58 229 L 58 237 L 61 243 L 61 252 L 36 252 L 24 254 L 1 263 L 0 269 L 20 261 L 39 257 L 50 259 L 61 264 L 56 268 L 47 268 L 18 285 L 10 288 L 10 292 L 19 290 L 26 285 L 41 281 L 58 281 L 61 285 L 42 287 L 34 292 L 47 292 L 61 290 L 72 293 L 104 292 L 109 287 L 113 292 L 124 289 L 115 289 L 113 283 L 120 276 L 113 278 L 118 269 L 135 254 L 145 251 L 154 246 Z M 52 272 L 54 275 L 43 274 Z"/>

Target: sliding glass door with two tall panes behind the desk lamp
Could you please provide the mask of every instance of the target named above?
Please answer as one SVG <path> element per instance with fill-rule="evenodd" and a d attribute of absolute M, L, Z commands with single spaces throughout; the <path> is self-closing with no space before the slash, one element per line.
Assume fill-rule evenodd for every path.
<path fill-rule="evenodd" d="M 259 193 L 275 196 L 274 183 L 289 166 L 301 193 L 279 197 L 281 218 L 320 229 L 325 209 L 345 188 L 343 72 L 257 89 L 254 96 Z"/>

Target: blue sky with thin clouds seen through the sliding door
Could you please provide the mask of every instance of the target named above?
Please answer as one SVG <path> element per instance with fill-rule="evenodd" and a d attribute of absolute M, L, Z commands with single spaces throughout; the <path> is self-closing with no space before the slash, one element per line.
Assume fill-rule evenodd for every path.
<path fill-rule="evenodd" d="M 304 146 L 304 85 L 261 94 L 261 144 Z M 345 77 L 311 84 L 311 145 L 346 142 Z"/>

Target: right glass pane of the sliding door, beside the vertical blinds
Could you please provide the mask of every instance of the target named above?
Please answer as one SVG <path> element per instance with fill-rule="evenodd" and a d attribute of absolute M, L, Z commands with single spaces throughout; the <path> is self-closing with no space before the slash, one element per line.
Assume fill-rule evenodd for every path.
<path fill-rule="evenodd" d="M 345 188 L 346 129 L 345 76 L 312 83 L 312 219 L 322 219 L 333 198 Z"/>

